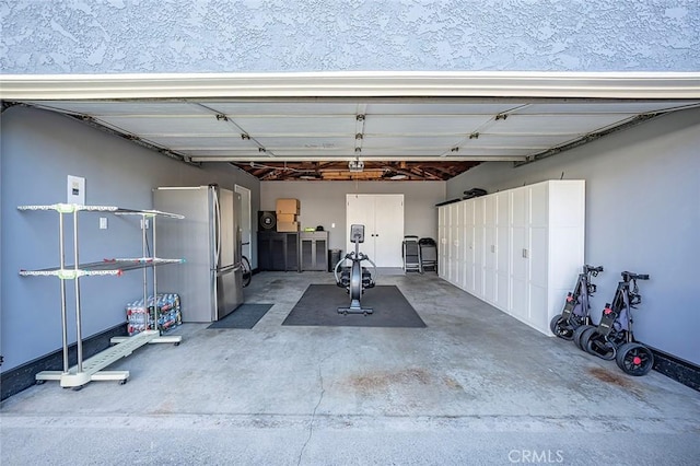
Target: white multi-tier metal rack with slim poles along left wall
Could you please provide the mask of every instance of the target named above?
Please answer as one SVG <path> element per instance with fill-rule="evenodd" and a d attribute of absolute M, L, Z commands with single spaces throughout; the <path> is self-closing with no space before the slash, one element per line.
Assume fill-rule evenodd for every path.
<path fill-rule="evenodd" d="M 109 364 L 126 358 L 138 348 L 148 343 L 173 343 L 179 345 L 182 336 L 162 336 L 158 328 L 158 275 L 155 267 L 171 264 L 182 264 L 185 259 L 165 259 L 156 257 L 156 231 L 155 219 L 158 217 L 170 217 L 174 219 L 184 219 L 183 215 L 176 213 L 161 212 L 158 210 L 132 210 L 121 209 L 113 206 L 82 206 L 74 203 L 55 203 L 49 206 L 20 206 L 21 211 L 56 211 L 58 212 L 58 230 L 59 230 L 59 266 L 40 270 L 20 270 L 23 277 L 57 277 L 60 281 L 61 291 L 61 329 L 62 329 L 62 371 L 42 371 L 36 374 L 36 383 L 40 384 L 46 381 L 58 381 L 60 386 L 65 388 L 80 389 L 85 384 L 93 381 L 118 381 L 125 384 L 129 378 L 129 371 L 104 371 Z M 79 261 L 79 237 L 78 237 L 78 218 L 79 212 L 106 212 L 116 215 L 135 215 L 141 220 L 141 243 L 142 256 L 137 258 L 115 258 L 105 259 L 96 263 L 81 264 Z M 66 235 L 65 235 L 65 215 L 72 215 L 73 220 L 73 264 L 66 264 Z M 151 236 L 153 243 L 152 254 L 149 254 L 148 235 L 145 222 L 151 220 Z M 94 276 L 120 276 L 130 270 L 140 269 L 143 271 L 143 305 L 147 307 L 148 322 L 148 293 L 149 279 L 148 271 L 152 270 L 152 280 L 150 282 L 152 295 L 154 298 L 154 315 L 152 328 L 147 326 L 141 331 L 131 337 L 114 337 L 110 342 L 112 347 L 83 360 L 82 347 L 82 326 L 81 326 L 81 303 L 80 303 L 80 279 L 82 277 Z M 68 357 L 68 306 L 66 300 L 66 281 L 73 280 L 75 289 L 75 335 L 77 335 L 77 352 L 78 363 L 69 366 Z"/>

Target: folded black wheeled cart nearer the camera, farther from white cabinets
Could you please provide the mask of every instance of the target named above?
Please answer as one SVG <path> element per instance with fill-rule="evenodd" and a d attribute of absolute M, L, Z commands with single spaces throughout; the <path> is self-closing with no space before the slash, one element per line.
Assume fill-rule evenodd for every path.
<path fill-rule="evenodd" d="M 652 370 L 654 354 L 634 341 L 632 310 L 642 302 L 637 280 L 649 280 L 649 275 L 622 272 L 612 303 L 606 303 L 597 326 L 583 331 L 581 347 L 606 361 L 615 359 L 623 372 L 639 376 Z"/>

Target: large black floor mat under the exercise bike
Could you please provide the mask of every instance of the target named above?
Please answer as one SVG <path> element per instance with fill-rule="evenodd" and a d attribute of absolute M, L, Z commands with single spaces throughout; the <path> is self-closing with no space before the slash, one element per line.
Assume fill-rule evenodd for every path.
<path fill-rule="evenodd" d="M 425 327 L 404 294 L 395 286 L 365 290 L 362 307 L 374 313 L 338 314 L 338 307 L 350 305 L 350 295 L 335 284 L 310 284 L 282 325 L 327 325 L 348 327 Z"/>

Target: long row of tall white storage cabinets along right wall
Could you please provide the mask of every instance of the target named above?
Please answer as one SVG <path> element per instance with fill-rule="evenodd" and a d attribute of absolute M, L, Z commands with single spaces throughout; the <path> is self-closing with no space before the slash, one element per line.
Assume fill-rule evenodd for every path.
<path fill-rule="evenodd" d="M 441 259 L 450 264 L 440 276 L 551 335 L 549 322 L 584 263 L 585 182 L 463 200 L 440 207 L 439 219 Z"/>

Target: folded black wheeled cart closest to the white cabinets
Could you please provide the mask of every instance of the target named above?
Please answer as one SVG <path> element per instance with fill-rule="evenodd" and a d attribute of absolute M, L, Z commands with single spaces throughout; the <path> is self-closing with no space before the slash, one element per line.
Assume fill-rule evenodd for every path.
<path fill-rule="evenodd" d="M 591 325 L 588 298 L 596 291 L 596 286 L 591 282 L 591 278 L 597 277 L 602 271 L 603 266 L 583 266 L 583 272 L 579 273 L 573 291 L 568 293 L 561 314 L 556 315 L 549 323 L 552 334 L 564 340 L 572 340 L 576 328 Z"/>

